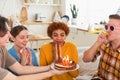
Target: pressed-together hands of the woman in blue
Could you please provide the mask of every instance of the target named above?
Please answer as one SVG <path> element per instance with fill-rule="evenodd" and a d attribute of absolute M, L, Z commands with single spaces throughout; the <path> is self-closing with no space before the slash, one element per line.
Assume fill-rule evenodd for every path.
<path fill-rule="evenodd" d="M 29 48 L 22 49 L 20 57 L 22 65 L 32 65 L 32 56 Z"/>

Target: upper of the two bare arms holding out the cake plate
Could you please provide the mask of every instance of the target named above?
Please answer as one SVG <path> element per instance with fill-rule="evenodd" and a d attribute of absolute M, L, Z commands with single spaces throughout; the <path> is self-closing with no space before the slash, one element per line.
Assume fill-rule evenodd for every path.
<path fill-rule="evenodd" d="M 44 71 L 50 70 L 49 66 L 22 66 L 18 62 L 14 63 L 12 66 L 9 67 L 10 70 L 18 73 L 18 74 L 32 74 L 32 73 L 39 73 Z"/>

